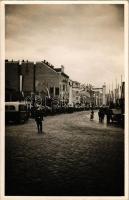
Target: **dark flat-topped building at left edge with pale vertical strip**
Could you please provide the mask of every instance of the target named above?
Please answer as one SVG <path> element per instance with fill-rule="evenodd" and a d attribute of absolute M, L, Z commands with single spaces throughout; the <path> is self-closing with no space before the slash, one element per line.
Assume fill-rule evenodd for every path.
<path fill-rule="evenodd" d="M 34 63 L 5 60 L 5 99 L 17 101 L 34 92 Z"/>

